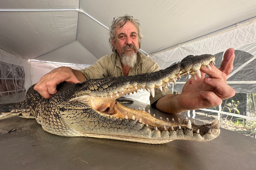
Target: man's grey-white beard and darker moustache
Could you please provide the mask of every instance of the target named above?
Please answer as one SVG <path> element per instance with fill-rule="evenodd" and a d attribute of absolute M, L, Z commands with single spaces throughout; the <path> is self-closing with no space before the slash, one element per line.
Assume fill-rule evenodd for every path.
<path fill-rule="evenodd" d="M 132 48 L 132 50 L 130 49 L 127 51 L 129 48 Z M 121 57 L 121 63 L 128 67 L 134 67 L 137 63 L 137 52 L 138 49 L 132 44 L 124 46 L 121 54 L 119 54 Z"/>

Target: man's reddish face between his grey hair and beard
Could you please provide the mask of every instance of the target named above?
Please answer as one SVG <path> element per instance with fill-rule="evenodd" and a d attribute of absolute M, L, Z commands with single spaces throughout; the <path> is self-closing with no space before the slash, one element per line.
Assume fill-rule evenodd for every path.
<path fill-rule="evenodd" d="M 116 27 L 115 36 L 116 42 L 112 40 L 112 43 L 120 56 L 130 53 L 137 54 L 139 49 L 138 30 L 132 22 L 126 22 L 121 28 Z M 130 44 L 135 48 L 124 48 Z M 122 51 L 123 48 L 125 51 Z"/>

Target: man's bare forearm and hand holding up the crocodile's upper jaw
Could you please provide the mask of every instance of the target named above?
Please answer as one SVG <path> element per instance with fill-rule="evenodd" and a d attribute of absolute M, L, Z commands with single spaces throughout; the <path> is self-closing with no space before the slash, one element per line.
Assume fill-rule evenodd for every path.
<path fill-rule="evenodd" d="M 223 99 L 234 96 L 235 90 L 226 83 L 227 75 L 233 69 L 234 58 L 234 49 L 227 49 L 219 69 L 215 66 L 211 66 L 211 70 L 201 67 L 201 79 L 190 78 L 181 94 L 169 94 L 160 98 L 156 103 L 157 109 L 167 113 L 178 113 L 214 107 L 220 105 Z M 205 74 L 209 77 L 205 77 Z"/>

